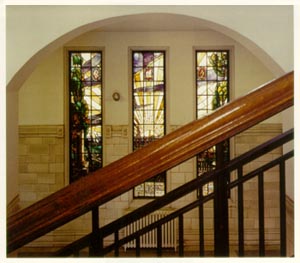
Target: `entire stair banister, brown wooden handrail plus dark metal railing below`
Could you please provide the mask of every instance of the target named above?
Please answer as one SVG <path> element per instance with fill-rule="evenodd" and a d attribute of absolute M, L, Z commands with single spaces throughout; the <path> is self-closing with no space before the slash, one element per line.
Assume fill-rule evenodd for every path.
<path fill-rule="evenodd" d="M 45 235 L 46 233 L 66 224 L 67 222 L 91 211 L 92 232 L 68 246 L 54 251 L 52 256 L 79 255 L 80 250 L 88 248 L 89 256 L 120 256 L 124 245 L 135 241 L 135 256 L 141 256 L 141 237 L 149 231 L 156 232 L 157 256 L 163 256 L 164 224 L 176 222 L 178 237 L 178 256 L 186 256 L 184 246 L 185 214 L 197 210 L 199 214 L 198 252 L 199 256 L 230 256 L 234 253 L 245 256 L 245 226 L 243 207 L 243 186 L 257 178 L 258 185 L 258 243 L 254 245 L 257 255 L 266 255 L 265 207 L 264 207 L 264 177 L 266 171 L 278 169 L 280 182 L 280 238 L 276 249 L 280 256 L 286 256 L 286 217 L 285 217 L 285 162 L 293 157 L 293 151 L 288 152 L 268 163 L 245 173 L 243 167 L 263 154 L 281 147 L 293 139 L 293 131 L 288 131 L 271 141 L 258 146 L 249 152 L 233 159 L 225 167 L 209 172 L 185 185 L 169 192 L 164 197 L 154 200 L 136 211 L 103 227 L 99 226 L 99 206 L 132 189 L 143 181 L 164 172 L 197 153 L 221 143 L 223 140 L 254 126 L 257 123 L 281 112 L 293 105 L 293 73 L 289 73 L 264 87 L 254 90 L 246 96 L 232 101 L 213 114 L 196 120 L 184 127 L 166 135 L 161 140 L 153 142 L 143 149 L 102 168 L 93 174 L 61 189 L 49 197 L 8 218 L 8 253 Z M 159 161 L 154 161 L 159 160 Z M 278 167 L 278 168 L 274 168 Z M 118 180 L 111 181 L 111 177 Z M 198 191 L 204 184 L 214 183 L 213 193 L 202 196 Z M 158 221 L 148 224 L 124 236 L 128 224 L 155 212 L 177 199 L 195 193 L 194 202 L 169 213 Z M 232 241 L 228 213 L 228 198 L 235 192 L 237 195 L 238 231 Z M 198 194 L 197 194 L 198 193 Z M 200 193 L 200 194 L 199 194 Z M 214 234 L 212 240 L 206 240 L 205 209 L 207 203 L 213 203 Z M 105 242 L 106 236 L 113 235 L 114 242 Z M 176 240 L 177 241 L 177 240 Z"/>

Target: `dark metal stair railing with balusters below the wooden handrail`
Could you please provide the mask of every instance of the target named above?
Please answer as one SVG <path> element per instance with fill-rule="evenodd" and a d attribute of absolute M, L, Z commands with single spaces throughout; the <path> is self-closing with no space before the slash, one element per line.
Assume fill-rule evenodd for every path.
<path fill-rule="evenodd" d="M 250 179 L 253 179 L 254 177 L 259 178 L 259 256 L 265 255 L 265 238 L 264 238 L 264 198 L 263 198 L 263 175 L 264 172 L 271 169 L 275 166 L 280 166 L 280 256 L 286 256 L 286 222 L 285 222 L 285 169 L 284 163 L 286 160 L 293 157 L 293 151 L 290 151 L 277 159 L 266 163 L 262 165 L 259 168 L 256 168 L 255 170 L 244 174 L 243 173 L 243 167 L 247 165 L 248 163 L 254 161 L 255 159 L 258 159 L 259 157 L 263 156 L 264 154 L 281 147 L 283 144 L 293 140 L 293 130 L 289 130 L 281 135 L 276 136 L 275 138 L 255 147 L 254 149 L 240 155 L 239 157 L 236 157 L 235 159 L 231 160 L 225 167 L 207 172 L 203 174 L 201 177 L 198 177 L 194 180 L 191 180 L 190 182 L 184 184 L 183 186 L 178 187 L 177 189 L 167 193 L 165 196 L 160 197 L 148 204 L 146 204 L 143 207 L 140 207 L 136 209 L 135 211 L 117 219 L 116 221 L 101 227 L 94 231 L 94 233 L 90 233 L 89 235 L 86 235 L 85 237 L 67 245 L 66 247 L 62 248 L 61 250 L 57 251 L 53 256 L 69 256 L 69 255 L 76 255 L 79 254 L 79 251 L 86 248 L 91 247 L 93 243 L 95 242 L 93 238 L 98 238 L 98 246 L 96 246 L 96 250 L 92 250 L 91 255 L 92 256 L 104 256 L 112 251 L 114 251 L 114 256 L 119 256 L 119 249 L 126 245 L 126 243 L 135 240 L 136 241 L 136 256 L 139 257 L 141 254 L 140 251 L 140 239 L 141 236 L 146 234 L 149 231 L 156 230 L 156 237 L 157 237 L 157 256 L 162 256 L 162 226 L 166 224 L 169 221 L 177 219 L 178 222 L 178 229 L 179 229 L 179 253 L 178 255 L 180 257 L 184 256 L 184 244 L 183 244 L 183 235 L 184 235 L 184 228 L 183 228 L 183 220 L 184 220 L 184 214 L 198 208 L 199 209 L 199 240 L 202 240 L 202 242 L 199 242 L 199 255 L 205 256 L 205 250 L 204 250 L 204 233 L 201 231 L 201 229 L 204 229 L 204 213 L 203 213 L 203 205 L 213 200 L 216 197 L 216 192 L 218 189 L 215 189 L 215 191 L 207 196 L 201 196 L 199 195 L 199 198 L 192 203 L 185 205 L 184 207 L 172 212 L 171 214 L 165 216 L 164 218 L 153 222 L 146 226 L 145 228 L 142 228 L 140 230 L 135 231 L 134 233 L 131 233 L 128 236 L 125 236 L 123 238 L 119 238 L 121 236 L 121 231 L 124 227 L 130 225 L 131 223 L 140 220 L 141 218 L 151 214 L 152 212 L 161 209 L 162 207 L 171 204 L 175 200 L 178 200 L 179 198 L 190 194 L 191 192 L 197 191 L 198 189 L 202 189 L 202 186 L 207 184 L 210 181 L 215 181 L 216 177 L 223 177 L 227 179 L 227 174 L 236 172 L 238 174 L 237 178 L 233 181 L 231 181 L 229 184 L 226 184 L 226 193 L 228 193 L 231 189 L 237 188 L 238 189 L 238 225 L 239 225 L 239 234 L 238 234 L 238 256 L 244 256 L 245 250 L 244 250 L 244 208 L 243 208 L 243 184 Z M 228 202 L 227 198 L 221 200 L 222 204 L 226 206 L 226 203 Z M 214 200 L 215 203 L 218 202 L 218 200 Z M 227 208 L 228 209 L 228 208 Z M 223 224 L 223 227 L 228 228 L 227 226 Z M 227 231 L 227 233 L 229 233 Z M 111 245 L 108 245 L 107 247 L 103 247 L 104 239 L 105 237 L 113 234 L 114 235 L 114 242 Z M 219 232 L 218 232 L 219 234 Z M 226 242 L 222 244 L 218 244 L 215 241 L 215 256 L 228 256 L 229 255 L 229 234 L 227 234 L 226 237 L 223 239 L 226 239 Z M 102 244 L 101 246 L 99 244 Z M 224 244 L 227 244 L 228 247 L 224 249 Z M 95 247 L 94 247 L 95 248 Z"/>

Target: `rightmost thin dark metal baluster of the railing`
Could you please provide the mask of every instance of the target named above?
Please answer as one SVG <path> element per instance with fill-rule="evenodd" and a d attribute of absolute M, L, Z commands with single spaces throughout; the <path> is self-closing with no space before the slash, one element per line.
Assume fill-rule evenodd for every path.
<path fill-rule="evenodd" d="M 286 257 L 285 162 L 280 163 L 280 255 Z"/>

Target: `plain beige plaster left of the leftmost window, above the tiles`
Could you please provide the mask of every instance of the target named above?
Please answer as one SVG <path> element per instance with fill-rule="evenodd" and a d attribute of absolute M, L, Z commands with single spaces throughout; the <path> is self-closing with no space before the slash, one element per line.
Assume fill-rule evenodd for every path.
<path fill-rule="evenodd" d="M 19 91 L 19 124 L 63 124 L 63 51 L 47 57 Z"/>

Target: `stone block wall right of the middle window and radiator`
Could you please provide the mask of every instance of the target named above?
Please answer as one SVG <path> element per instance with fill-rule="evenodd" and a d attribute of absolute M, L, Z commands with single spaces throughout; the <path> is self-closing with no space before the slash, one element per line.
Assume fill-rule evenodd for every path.
<path fill-rule="evenodd" d="M 232 157 L 237 157 L 242 153 L 264 143 L 267 140 L 274 138 L 282 133 L 280 124 L 263 123 L 252 127 L 251 129 L 235 136 L 231 141 Z M 256 159 L 254 162 L 244 167 L 244 173 L 253 171 L 255 168 L 274 160 L 282 154 L 282 148 L 279 147 L 272 152 Z M 189 167 L 184 170 L 183 167 Z M 181 169 L 184 170 L 181 171 Z M 195 160 L 191 159 L 185 164 L 175 167 L 171 170 L 172 187 L 178 187 L 183 182 L 195 178 Z M 236 178 L 236 173 L 231 174 L 231 178 Z M 265 199 L 265 238 L 266 249 L 275 250 L 279 246 L 279 169 L 272 168 L 264 174 L 264 199 Z M 195 200 L 196 194 L 190 194 L 185 198 L 181 198 L 175 204 L 174 208 L 180 207 L 188 202 Z M 228 199 L 229 205 L 229 229 L 230 229 L 230 246 L 231 254 L 236 254 L 238 244 L 238 198 L 237 190 L 233 189 Z M 209 202 L 204 206 L 204 232 L 205 232 L 205 247 L 208 250 L 213 249 L 214 231 L 213 231 L 213 203 Z M 244 185 L 244 227 L 245 241 L 247 250 L 257 249 L 259 221 L 258 221 L 258 180 L 251 179 Z M 199 247 L 199 221 L 198 209 L 187 213 L 184 216 L 185 222 L 185 246 L 187 250 L 195 250 Z M 291 227 L 290 227 L 291 228 Z M 292 243 L 292 242 L 290 242 Z"/>

